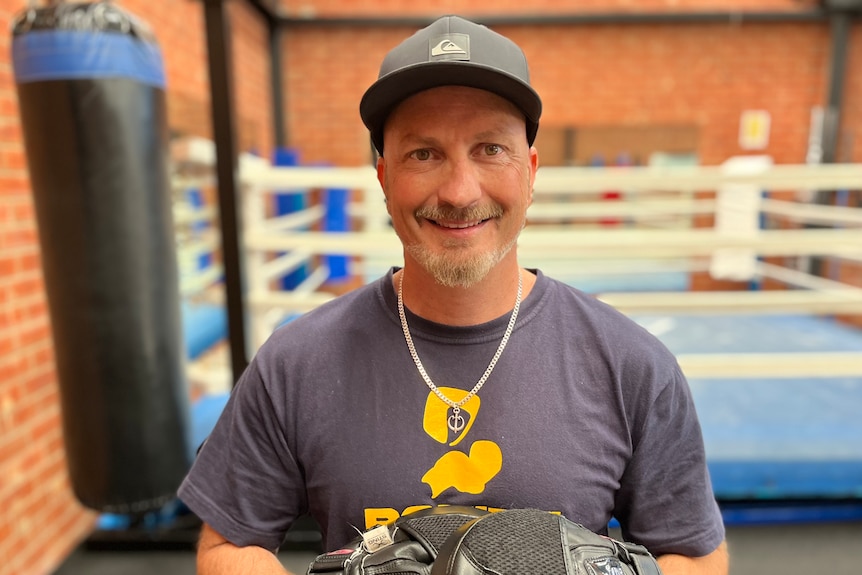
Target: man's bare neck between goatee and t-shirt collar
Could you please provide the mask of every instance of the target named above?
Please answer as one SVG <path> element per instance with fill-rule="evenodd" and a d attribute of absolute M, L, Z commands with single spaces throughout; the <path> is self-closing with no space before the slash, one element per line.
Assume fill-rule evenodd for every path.
<path fill-rule="evenodd" d="M 518 274 L 524 282 L 521 299 L 536 277 L 522 270 L 515 258 L 500 262 L 479 283 L 469 287 L 446 287 L 415 262 L 407 262 L 394 276 L 394 287 L 402 279 L 404 305 L 414 314 L 447 325 L 477 325 L 512 311 L 518 292 Z"/>

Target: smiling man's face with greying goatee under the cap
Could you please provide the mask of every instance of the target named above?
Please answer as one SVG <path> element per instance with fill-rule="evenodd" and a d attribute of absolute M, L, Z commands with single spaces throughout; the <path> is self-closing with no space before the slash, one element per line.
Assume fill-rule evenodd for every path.
<path fill-rule="evenodd" d="M 433 88 L 392 112 L 384 142 L 377 175 L 405 259 L 438 283 L 469 287 L 516 257 L 538 155 L 514 105 L 484 90 Z"/>

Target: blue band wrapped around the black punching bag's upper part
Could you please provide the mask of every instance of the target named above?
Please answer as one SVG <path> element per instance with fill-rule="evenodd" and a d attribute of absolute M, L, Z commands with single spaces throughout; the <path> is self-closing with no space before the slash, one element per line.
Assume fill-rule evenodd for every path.
<path fill-rule="evenodd" d="M 116 32 L 38 30 L 12 42 L 15 81 L 129 78 L 165 88 L 158 45 Z"/>

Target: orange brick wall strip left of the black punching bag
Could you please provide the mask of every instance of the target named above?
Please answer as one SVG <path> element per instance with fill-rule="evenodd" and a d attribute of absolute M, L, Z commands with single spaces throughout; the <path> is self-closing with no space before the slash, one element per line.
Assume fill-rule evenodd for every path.
<path fill-rule="evenodd" d="M 8 31 L 20 2 L 0 2 Z M 65 469 L 11 37 L 0 34 L 0 573 L 44 573 L 89 529 Z"/>

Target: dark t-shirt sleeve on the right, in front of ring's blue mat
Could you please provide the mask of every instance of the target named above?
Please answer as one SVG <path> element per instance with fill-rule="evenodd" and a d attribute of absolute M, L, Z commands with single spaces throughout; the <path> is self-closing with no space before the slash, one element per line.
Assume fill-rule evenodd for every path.
<path fill-rule="evenodd" d="M 673 362 L 633 423 L 632 459 L 615 511 L 623 536 L 653 554 L 700 557 L 724 539 L 691 391 Z"/>

